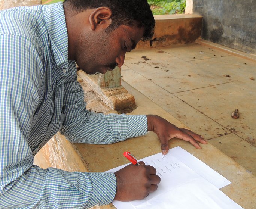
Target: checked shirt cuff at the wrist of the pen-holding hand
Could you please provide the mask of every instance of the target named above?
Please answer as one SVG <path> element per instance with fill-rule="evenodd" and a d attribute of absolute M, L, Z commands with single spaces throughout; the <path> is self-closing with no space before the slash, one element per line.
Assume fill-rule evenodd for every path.
<path fill-rule="evenodd" d="M 91 206 L 107 205 L 116 195 L 116 176 L 114 173 L 86 173 L 91 178 Z"/>

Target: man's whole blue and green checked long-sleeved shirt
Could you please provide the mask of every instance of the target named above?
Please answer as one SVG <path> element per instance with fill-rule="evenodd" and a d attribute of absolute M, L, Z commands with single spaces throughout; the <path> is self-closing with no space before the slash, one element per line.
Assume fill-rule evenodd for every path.
<path fill-rule="evenodd" d="M 110 203 L 112 173 L 33 165 L 58 131 L 74 143 L 109 144 L 147 132 L 145 115 L 88 112 L 68 61 L 63 4 L 0 12 L 0 208 L 89 208 Z"/>

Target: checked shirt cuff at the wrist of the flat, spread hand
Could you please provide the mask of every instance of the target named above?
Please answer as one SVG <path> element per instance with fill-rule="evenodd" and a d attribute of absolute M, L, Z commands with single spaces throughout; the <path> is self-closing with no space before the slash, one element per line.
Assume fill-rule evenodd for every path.
<path fill-rule="evenodd" d="M 147 116 L 146 115 L 127 115 L 128 138 L 143 136 L 147 134 Z"/>

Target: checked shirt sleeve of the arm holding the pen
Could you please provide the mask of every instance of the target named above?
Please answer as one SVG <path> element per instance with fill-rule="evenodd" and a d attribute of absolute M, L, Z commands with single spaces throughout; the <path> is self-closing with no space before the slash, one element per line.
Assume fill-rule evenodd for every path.
<path fill-rule="evenodd" d="M 90 208 L 110 203 L 116 193 L 113 173 L 33 165 L 28 139 L 40 102 L 39 52 L 15 35 L 0 35 L 0 52 L 0 208 Z"/>

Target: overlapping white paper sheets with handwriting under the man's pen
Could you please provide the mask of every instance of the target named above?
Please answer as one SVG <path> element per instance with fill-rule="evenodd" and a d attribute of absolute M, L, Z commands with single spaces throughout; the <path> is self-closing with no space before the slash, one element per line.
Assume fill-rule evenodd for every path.
<path fill-rule="evenodd" d="M 241 209 L 218 189 L 231 182 L 180 147 L 170 149 L 167 155 L 158 153 L 140 161 L 156 168 L 161 177 L 158 189 L 140 201 L 113 201 L 118 209 Z M 124 166 L 106 172 L 115 172 Z"/>

